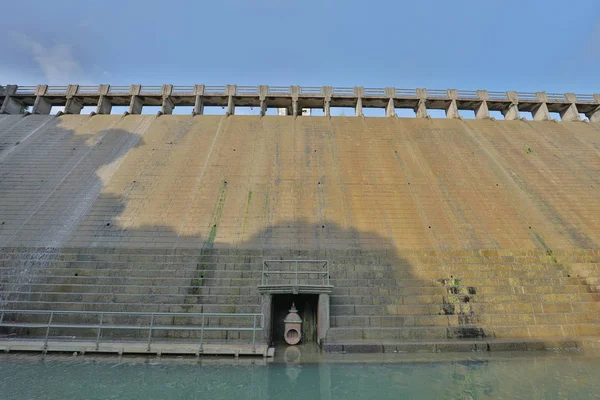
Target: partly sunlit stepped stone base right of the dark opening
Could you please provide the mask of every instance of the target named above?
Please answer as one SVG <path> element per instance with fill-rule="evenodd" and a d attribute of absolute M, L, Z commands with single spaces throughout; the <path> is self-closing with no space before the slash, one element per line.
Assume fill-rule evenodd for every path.
<path fill-rule="evenodd" d="M 600 334 L 598 251 L 424 251 L 405 259 L 413 261 L 336 271 L 330 343 Z"/>

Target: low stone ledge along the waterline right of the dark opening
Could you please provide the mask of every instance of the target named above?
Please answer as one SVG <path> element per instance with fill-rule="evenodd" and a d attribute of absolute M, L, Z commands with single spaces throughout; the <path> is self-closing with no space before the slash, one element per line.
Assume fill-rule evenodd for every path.
<path fill-rule="evenodd" d="M 326 353 L 449 353 L 475 351 L 582 350 L 600 348 L 597 338 L 548 340 L 452 340 L 431 342 L 324 342 Z"/>

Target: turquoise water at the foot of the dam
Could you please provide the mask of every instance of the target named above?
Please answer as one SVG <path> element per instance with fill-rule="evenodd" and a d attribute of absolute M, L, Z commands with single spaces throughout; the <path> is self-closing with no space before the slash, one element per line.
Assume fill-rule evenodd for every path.
<path fill-rule="evenodd" d="M 0 398 L 600 399 L 600 357 L 579 353 L 321 361 L 0 355 Z"/>

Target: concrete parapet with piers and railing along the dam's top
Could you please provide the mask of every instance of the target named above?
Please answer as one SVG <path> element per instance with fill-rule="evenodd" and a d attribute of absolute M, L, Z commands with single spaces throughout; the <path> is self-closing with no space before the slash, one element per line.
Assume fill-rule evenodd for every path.
<path fill-rule="evenodd" d="M 36 91 L 32 86 L 2 94 L 3 113 L 21 113 L 28 106 L 33 112 L 45 114 L 52 106 L 65 106 L 65 112 L 76 114 L 83 106 L 97 106 L 98 114 L 110 113 L 113 105 L 128 105 L 130 114 L 139 114 L 145 105 L 160 106 L 162 114 L 170 114 L 178 106 L 193 106 L 193 114 L 202 114 L 205 105 L 226 108 L 227 115 L 235 113 L 237 106 L 260 107 L 265 115 L 269 107 L 286 110 L 285 115 L 301 115 L 301 110 L 322 108 L 326 116 L 332 107 L 353 107 L 355 115 L 362 116 L 364 108 L 385 109 L 388 117 L 396 115 L 396 108 L 413 109 L 418 118 L 427 117 L 428 109 L 444 110 L 448 118 L 458 118 L 460 110 L 470 110 L 477 119 L 489 118 L 490 111 L 501 111 L 507 120 L 520 118 L 520 111 L 531 112 L 534 120 L 547 120 L 550 112 L 557 112 L 564 121 L 576 121 L 585 114 L 590 121 L 600 119 L 597 110 L 600 98 L 596 95 L 564 95 L 545 92 L 487 92 L 460 91 L 456 89 L 396 89 L 362 87 L 300 87 L 300 86 L 210 86 L 206 93 L 204 85 L 158 86 L 132 85 L 125 87 L 108 85 L 46 87 L 46 92 Z M 239 90 L 238 90 L 239 89 Z M 280 114 L 284 115 L 284 114 Z M 307 114 L 308 115 L 308 114 Z"/>

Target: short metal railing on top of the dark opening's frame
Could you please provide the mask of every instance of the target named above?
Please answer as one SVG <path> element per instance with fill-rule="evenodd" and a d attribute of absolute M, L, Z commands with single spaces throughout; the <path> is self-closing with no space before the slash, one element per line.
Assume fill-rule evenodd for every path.
<path fill-rule="evenodd" d="M 270 283 L 269 278 L 272 279 Z M 265 260 L 260 282 L 264 286 L 329 286 L 329 262 L 327 260 Z"/>

